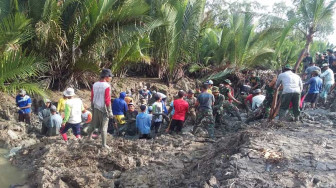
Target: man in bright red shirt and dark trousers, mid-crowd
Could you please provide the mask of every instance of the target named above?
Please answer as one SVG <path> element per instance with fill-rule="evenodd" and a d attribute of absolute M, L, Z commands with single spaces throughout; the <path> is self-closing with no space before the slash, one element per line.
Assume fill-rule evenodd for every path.
<path fill-rule="evenodd" d="M 174 110 L 175 113 L 172 117 L 172 122 L 168 131 L 179 133 L 182 130 L 183 123 L 185 120 L 185 115 L 188 112 L 189 105 L 188 102 L 183 100 L 184 91 L 180 90 L 178 92 L 178 99 L 174 100 Z"/>

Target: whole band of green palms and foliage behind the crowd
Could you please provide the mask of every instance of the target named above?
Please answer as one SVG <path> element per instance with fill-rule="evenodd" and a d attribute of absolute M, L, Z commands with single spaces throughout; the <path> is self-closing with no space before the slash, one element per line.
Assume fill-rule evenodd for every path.
<path fill-rule="evenodd" d="M 219 0 L 2 0 L 0 87 L 89 87 L 103 67 L 167 83 L 228 67 L 298 67 L 310 48 L 333 47 L 323 38 L 335 1 L 293 3 L 266 14 L 256 3 Z"/>

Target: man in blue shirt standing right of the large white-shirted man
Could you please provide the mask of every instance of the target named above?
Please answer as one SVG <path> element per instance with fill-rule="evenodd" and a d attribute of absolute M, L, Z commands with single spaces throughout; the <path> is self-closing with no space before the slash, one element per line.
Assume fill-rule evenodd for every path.
<path fill-rule="evenodd" d="M 310 102 L 312 108 L 315 108 L 319 93 L 322 91 L 323 81 L 318 77 L 319 73 L 317 70 L 313 71 L 311 73 L 312 77 L 305 83 L 305 85 L 309 85 L 309 90 L 304 102 Z"/>

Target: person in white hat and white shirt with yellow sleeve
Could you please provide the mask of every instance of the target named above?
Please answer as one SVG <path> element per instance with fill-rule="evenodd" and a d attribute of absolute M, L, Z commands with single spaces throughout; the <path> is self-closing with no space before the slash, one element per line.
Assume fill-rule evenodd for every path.
<path fill-rule="evenodd" d="M 83 102 L 80 98 L 74 98 L 75 90 L 68 88 L 65 96 L 68 100 L 65 103 L 64 119 L 61 128 L 61 135 L 64 141 L 68 141 L 67 132 L 71 128 L 77 139 L 81 139 L 80 123 L 82 122 Z"/>

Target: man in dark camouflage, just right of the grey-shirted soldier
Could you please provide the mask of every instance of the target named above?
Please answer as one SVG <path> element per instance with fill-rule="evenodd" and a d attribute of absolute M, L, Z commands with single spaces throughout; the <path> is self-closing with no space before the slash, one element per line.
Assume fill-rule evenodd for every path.
<path fill-rule="evenodd" d="M 215 118 L 215 123 L 219 124 L 219 126 L 221 128 L 223 128 L 222 124 L 227 125 L 227 123 L 225 122 L 225 120 L 223 119 L 223 105 L 225 102 L 225 97 L 224 95 L 219 93 L 219 88 L 214 86 L 212 88 L 212 94 L 215 97 L 215 103 L 214 103 L 214 107 L 213 107 L 213 115 Z M 224 129 L 223 129 L 224 130 Z"/>

